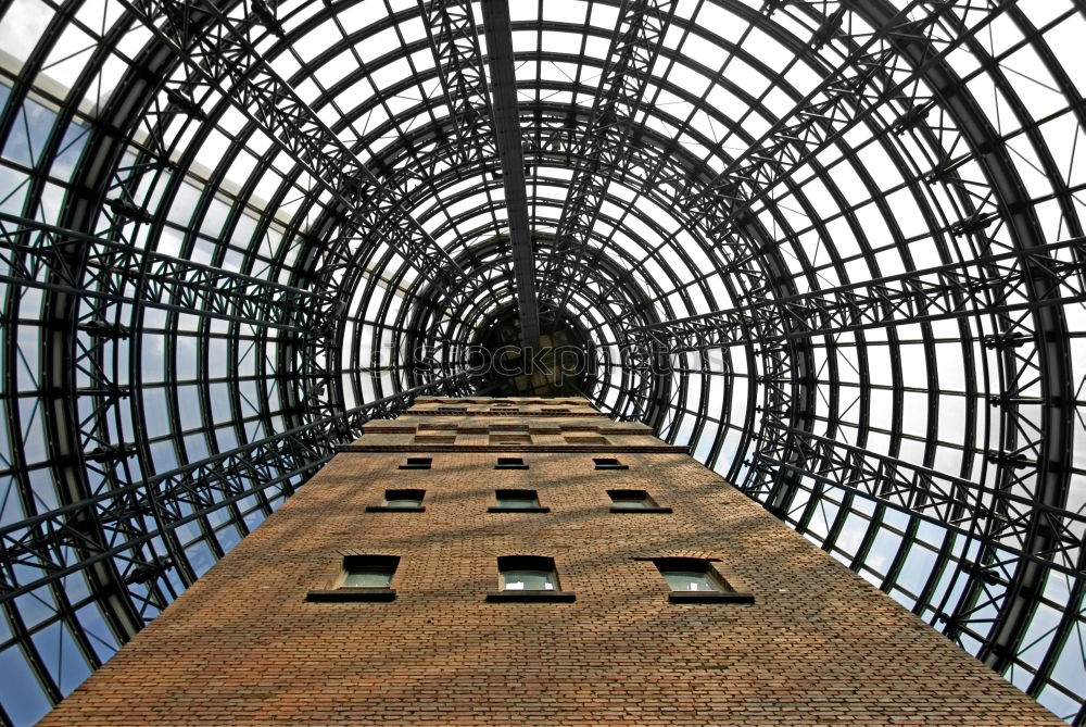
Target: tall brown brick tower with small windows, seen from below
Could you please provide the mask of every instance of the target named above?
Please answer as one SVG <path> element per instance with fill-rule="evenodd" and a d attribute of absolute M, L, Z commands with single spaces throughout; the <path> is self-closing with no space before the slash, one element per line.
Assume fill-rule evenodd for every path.
<path fill-rule="evenodd" d="M 583 399 L 341 450 L 42 724 L 1062 724 Z"/>

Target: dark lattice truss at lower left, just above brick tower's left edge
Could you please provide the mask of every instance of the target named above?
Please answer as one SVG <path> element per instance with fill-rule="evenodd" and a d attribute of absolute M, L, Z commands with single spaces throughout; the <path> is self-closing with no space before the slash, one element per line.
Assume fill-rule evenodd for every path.
<path fill-rule="evenodd" d="M 469 376 L 437 379 L 0 527 L 0 605 L 110 560 L 123 568 L 127 598 L 146 599 L 147 585 L 181 569 L 185 560 L 184 553 L 149 559 L 148 544 L 251 494 L 292 493 L 299 478 L 319 469 L 366 422 L 391 417 L 421 394 L 456 394 Z"/>

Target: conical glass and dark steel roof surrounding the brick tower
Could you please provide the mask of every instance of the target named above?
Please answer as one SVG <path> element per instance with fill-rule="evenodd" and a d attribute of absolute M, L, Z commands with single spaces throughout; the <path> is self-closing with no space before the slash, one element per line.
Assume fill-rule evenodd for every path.
<path fill-rule="evenodd" d="M 4 722 L 519 338 L 1086 724 L 1083 37 L 1072 0 L 0 4 Z"/>

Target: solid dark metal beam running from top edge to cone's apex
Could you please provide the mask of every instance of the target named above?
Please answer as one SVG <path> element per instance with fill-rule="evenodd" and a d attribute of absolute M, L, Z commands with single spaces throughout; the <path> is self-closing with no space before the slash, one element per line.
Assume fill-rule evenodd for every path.
<path fill-rule="evenodd" d="M 513 246 L 513 274 L 517 285 L 520 312 L 520 338 L 525 348 L 540 344 L 540 314 L 535 301 L 535 253 L 531 223 L 528 220 L 528 191 L 525 181 L 525 151 L 517 112 L 517 73 L 513 62 L 513 22 L 509 0 L 482 0 L 483 29 L 487 33 L 487 59 L 490 64 L 491 108 L 494 134 L 502 158 L 502 184 L 505 210 L 509 217 Z"/>

